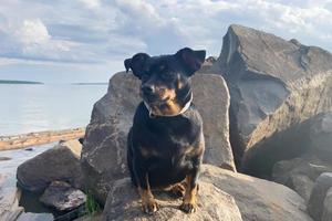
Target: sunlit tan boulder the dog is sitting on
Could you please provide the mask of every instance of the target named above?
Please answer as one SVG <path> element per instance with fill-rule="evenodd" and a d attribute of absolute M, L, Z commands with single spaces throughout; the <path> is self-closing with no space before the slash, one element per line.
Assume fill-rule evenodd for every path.
<path fill-rule="evenodd" d="M 124 194 L 125 192 L 125 194 Z M 160 209 L 154 215 L 143 213 L 139 197 L 129 178 L 114 182 L 103 212 L 103 221 L 241 221 L 241 213 L 231 196 L 211 183 L 199 182 L 197 212 L 187 214 L 179 210 L 181 199 L 156 192 Z"/>

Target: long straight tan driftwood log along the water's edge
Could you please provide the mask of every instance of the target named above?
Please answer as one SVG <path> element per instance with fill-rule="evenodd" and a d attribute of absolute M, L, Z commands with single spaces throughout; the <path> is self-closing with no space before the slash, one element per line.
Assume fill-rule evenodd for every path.
<path fill-rule="evenodd" d="M 0 136 L 0 151 L 9 149 L 20 149 L 59 140 L 77 139 L 84 137 L 84 135 L 85 127 L 63 130 L 37 131 L 13 136 Z"/>

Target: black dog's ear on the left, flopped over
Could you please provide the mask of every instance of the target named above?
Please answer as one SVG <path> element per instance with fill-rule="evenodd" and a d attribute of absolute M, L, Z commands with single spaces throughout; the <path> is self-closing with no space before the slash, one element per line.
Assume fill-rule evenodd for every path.
<path fill-rule="evenodd" d="M 134 75 L 141 78 L 143 72 L 144 72 L 144 65 L 146 61 L 149 59 L 149 55 L 146 53 L 137 53 L 132 59 L 126 59 L 124 61 L 124 65 L 126 67 L 126 72 L 129 71 L 129 69 L 133 71 Z"/>

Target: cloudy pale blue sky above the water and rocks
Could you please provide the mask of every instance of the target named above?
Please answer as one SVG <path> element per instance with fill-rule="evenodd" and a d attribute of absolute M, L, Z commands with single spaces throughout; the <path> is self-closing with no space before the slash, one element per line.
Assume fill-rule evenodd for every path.
<path fill-rule="evenodd" d="M 0 78 L 106 82 L 136 52 L 217 56 L 231 23 L 332 51 L 332 0 L 1 0 Z"/>

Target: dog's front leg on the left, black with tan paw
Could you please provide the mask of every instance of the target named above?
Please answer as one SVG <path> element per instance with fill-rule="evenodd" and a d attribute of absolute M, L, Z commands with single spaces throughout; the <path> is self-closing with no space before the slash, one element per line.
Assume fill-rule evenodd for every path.
<path fill-rule="evenodd" d="M 142 164 L 142 161 L 134 159 L 135 179 L 142 199 L 142 209 L 145 213 L 153 214 L 158 211 L 159 206 L 151 191 L 147 169 Z"/>

